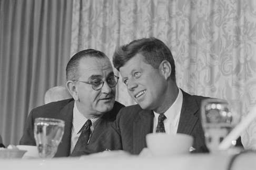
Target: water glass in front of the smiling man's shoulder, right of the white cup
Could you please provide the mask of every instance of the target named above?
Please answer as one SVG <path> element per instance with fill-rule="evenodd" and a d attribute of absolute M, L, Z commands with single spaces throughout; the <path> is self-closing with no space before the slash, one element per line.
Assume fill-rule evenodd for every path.
<path fill-rule="evenodd" d="M 201 122 L 205 144 L 210 152 L 218 152 L 219 144 L 240 121 L 240 102 L 205 99 L 201 104 Z M 232 141 L 235 145 L 236 141 Z"/>

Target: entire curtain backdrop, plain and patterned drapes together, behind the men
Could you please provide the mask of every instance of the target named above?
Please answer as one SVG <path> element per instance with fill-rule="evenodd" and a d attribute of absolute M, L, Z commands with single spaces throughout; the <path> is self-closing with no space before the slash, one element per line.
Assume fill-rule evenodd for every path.
<path fill-rule="evenodd" d="M 1 0 L 0 134 L 17 144 L 32 108 L 64 85 L 68 58 L 85 48 L 112 55 L 133 39 L 161 39 L 178 86 L 190 94 L 256 104 L 254 0 Z M 115 70 L 115 74 L 119 73 Z M 120 81 L 117 101 L 134 104 Z M 256 121 L 243 134 L 256 148 Z"/>

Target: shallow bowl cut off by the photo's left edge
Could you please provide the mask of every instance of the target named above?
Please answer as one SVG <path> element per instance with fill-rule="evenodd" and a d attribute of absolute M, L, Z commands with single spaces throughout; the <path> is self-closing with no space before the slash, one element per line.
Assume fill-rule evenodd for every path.
<path fill-rule="evenodd" d="M 0 148 L 0 159 L 22 158 L 25 150 Z"/>

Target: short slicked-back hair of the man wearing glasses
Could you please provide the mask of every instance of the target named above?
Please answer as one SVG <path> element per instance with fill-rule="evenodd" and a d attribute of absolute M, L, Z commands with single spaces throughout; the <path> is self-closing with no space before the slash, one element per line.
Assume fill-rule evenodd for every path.
<path fill-rule="evenodd" d="M 78 65 L 80 59 L 84 57 L 96 57 L 105 58 L 107 57 L 103 52 L 97 51 L 96 49 L 85 49 L 73 55 L 68 61 L 66 66 L 66 79 L 67 81 L 76 81 L 79 78 Z"/>

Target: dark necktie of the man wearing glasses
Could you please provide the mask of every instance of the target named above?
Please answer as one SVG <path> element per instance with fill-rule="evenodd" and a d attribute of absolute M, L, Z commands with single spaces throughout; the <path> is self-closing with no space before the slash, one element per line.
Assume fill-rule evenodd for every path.
<path fill-rule="evenodd" d="M 84 126 L 82 127 L 81 135 L 79 136 L 78 141 L 75 144 L 75 147 L 71 156 L 76 156 L 78 152 L 83 151 L 91 135 L 91 128 L 90 128 L 91 126 L 92 126 L 92 121 L 88 119 L 85 122 Z"/>

